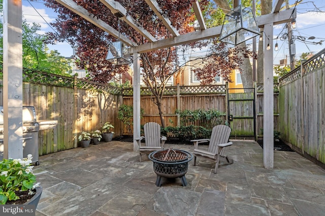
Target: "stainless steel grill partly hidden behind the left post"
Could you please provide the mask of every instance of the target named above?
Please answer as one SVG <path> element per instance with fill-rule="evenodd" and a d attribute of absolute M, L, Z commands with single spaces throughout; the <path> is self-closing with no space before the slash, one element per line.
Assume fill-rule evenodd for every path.
<path fill-rule="evenodd" d="M 4 157 L 4 114 L 3 106 L 0 106 L 0 159 Z M 32 155 L 32 162 L 39 165 L 39 131 L 43 129 L 52 129 L 56 126 L 57 120 L 39 120 L 36 119 L 36 110 L 34 106 L 23 106 L 22 111 L 22 130 L 23 130 L 23 157 Z"/>

